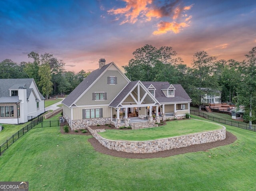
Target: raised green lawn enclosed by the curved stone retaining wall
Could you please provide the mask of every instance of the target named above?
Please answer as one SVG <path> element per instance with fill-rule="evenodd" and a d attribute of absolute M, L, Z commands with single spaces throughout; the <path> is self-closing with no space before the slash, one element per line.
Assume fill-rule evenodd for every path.
<path fill-rule="evenodd" d="M 166 122 L 165 126 L 138 130 L 120 131 L 106 129 L 106 132 L 100 132 L 99 134 L 102 137 L 110 140 L 146 141 L 212 131 L 217 129 L 222 129 L 222 126 L 212 122 L 198 122 L 198 120 L 190 119 L 168 121 Z"/>

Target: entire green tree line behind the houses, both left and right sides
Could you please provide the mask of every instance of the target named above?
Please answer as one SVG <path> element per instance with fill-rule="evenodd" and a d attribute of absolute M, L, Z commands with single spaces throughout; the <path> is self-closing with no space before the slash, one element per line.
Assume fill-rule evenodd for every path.
<path fill-rule="evenodd" d="M 244 119 L 256 122 L 256 47 L 243 61 L 218 60 L 206 51 L 194 53 L 191 67 L 170 46 L 156 48 L 144 45 L 136 49 L 134 58 L 123 66 L 131 81 L 168 81 L 181 84 L 194 105 L 202 107 L 204 95 L 221 92 L 222 102 L 232 102 L 246 110 Z M 34 78 L 42 94 L 69 94 L 90 72 L 65 71 L 65 63 L 52 54 L 30 52 L 32 62 L 19 65 L 10 59 L 0 62 L 0 78 Z"/>

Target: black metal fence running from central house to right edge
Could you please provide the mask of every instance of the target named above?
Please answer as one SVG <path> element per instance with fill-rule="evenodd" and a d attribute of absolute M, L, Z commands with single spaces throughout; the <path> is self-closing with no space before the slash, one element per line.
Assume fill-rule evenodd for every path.
<path fill-rule="evenodd" d="M 246 124 L 244 122 L 221 119 L 221 118 L 210 116 L 204 112 L 200 112 L 200 111 L 196 111 L 196 110 L 190 110 L 190 114 L 198 115 L 198 116 L 204 117 L 208 120 L 223 123 L 226 125 L 230 125 L 230 126 L 234 126 L 234 127 L 238 127 L 238 128 L 242 128 L 242 129 L 247 129 L 247 130 L 251 130 L 251 131 L 256 131 L 255 125 L 252 125 L 250 127 L 249 124 Z"/>

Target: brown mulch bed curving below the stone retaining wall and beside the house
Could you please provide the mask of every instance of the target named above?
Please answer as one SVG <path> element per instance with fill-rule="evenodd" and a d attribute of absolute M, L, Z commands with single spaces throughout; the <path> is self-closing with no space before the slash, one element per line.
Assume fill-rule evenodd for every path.
<path fill-rule="evenodd" d="M 72 131 L 71 128 L 69 129 L 68 133 L 65 133 L 62 127 L 63 127 L 63 125 L 60 127 L 60 131 L 62 134 L 91 135 L 88 130 L 86 133 L 82 133 L 80 130 L 78 130 L 78 132 L 74 132 L 74 130 Z M 101 129 L 101 128 L 114 129 L 114 126 L 111 126 L 111 127 L 91 126 L 91 128 L 92 129 Z M 128 129 L 120 129 L 120 130 L 128 130 Z M 102 154 L 107 154 L 107 155 L 120 157 L 120 158 L 136 158 L 136 159 L 164 158 L 164 157 L 174 156 L 174 155 L 178 155 L 178 154 L 198 152 L 198 151 L 208 152 L 208 149 L 228 145 L 228 144 L 233 143 L 235 140 L 236 140 L 236 136 L 234 136 L 232 133 L 226 131 L 226 139 L 225 140 L 211 142 L 211 143 L 205 143 L 205 144 L 192 145 L 192 146 L 177 148 L 177 149 L 172 149 L 172 150 L 165 150 L 165 151 L 160 151 L 160 152 L 156 152 L 156 153 L 137 154 L 137 153 L 126 153 L 126 152 L 110 150 L 110 149 L 102 146 L 102 144 L 100 144 L 95 138 L 88 139 L 88 141 L 94 147 L 94 149 Z"/>

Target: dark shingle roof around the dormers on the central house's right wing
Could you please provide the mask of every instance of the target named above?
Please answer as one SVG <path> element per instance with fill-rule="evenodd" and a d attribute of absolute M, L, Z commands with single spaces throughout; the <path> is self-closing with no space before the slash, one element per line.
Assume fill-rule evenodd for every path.
<path fill-rule="evenodd" d="M 169 82 L 142 82 L 145 87 L 149 87 L 151 84 L 155 87 L 155 97 L 160 103 L 166 102 L 188 102 L 191 101 L 191 98 L 188 96 L 186 91 L 180 84 L 172 84 L 175 88 L 174 97 L 166 97 L 162 90 L 168 89 L 170 87 Z"/>

